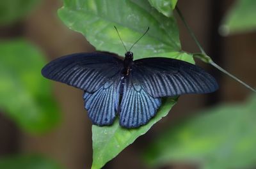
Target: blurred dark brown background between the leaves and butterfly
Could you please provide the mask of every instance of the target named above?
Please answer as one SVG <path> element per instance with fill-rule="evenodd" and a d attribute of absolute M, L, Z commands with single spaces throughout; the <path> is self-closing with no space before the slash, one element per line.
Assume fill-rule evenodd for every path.
<path fill-rule="evenodd" d="M 218 33 L 221 18 L 234 3 L 231 0 L 180 0 L 178 6 L 189 26 L 208 55 L 230 73 L 256 86 L 256 33 L 222 37 Z M 0 27 L 0 38 L 11 39 L 25 36 L 35 43 L 51 61 L 61 55 L 74 52 L 92 52 L 94 48 L 79 33 L 64 26 L 56 11 L 61 1 L 45 0 L 26 20 L 8 27 Z M 180 40 L 183 50 L 199 52 L 182 22 L 179 21 Z M 220 102 L 243 101 L 250 91 L 238 82 L 201 61 L 197 64 L 207 69 L 220 84 L 212 94 L 181 96 L 172 112 L 158 122 L 146 135 L 138 138 L 104 168 L 145 168 L 140 152 L 159 131 L 166 126 L 191 115 L 196 110 L 211 107 Z M 82 91 L 60 83 L 54 83 L 54 94 L 63 112 L 61 124 L 51 133 L 31 136 L 20 131 L 15 124 L 0 113 L 0 156 L 20 152 L 38 152 L 56 159 L 69 169 L 90 168 L 92 163 L 92 123 L 83 108 Z M 230 117 L 231 118 L 231 117 Z M 166 168 L 193 168 L 184 164 Z"/>

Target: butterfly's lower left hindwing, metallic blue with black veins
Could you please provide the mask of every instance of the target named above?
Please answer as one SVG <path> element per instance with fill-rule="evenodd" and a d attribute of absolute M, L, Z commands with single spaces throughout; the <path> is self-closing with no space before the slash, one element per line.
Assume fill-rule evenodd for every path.
<path fill-rule="evenodd" d="M 84 108 L 93 124 L 106 126 L 113 124 L 118 110 L 120 76 L 113 82 L 106 82 L 93 93 L 84 92 Z"/>

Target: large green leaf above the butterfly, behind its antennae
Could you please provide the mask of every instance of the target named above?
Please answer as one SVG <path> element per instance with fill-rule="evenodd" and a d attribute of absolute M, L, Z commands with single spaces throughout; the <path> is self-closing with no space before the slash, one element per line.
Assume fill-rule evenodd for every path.
<path fill-rule="evenodd" d="M 65 0 L 58 13 L 70 29 L 82 33 L 97 50 L 125 54 L 116 26 L 127 50 L 150 27 L 132 48 L 134 59 L 180 51 L 175 18 L 165 17 L 147 0 Z"/>

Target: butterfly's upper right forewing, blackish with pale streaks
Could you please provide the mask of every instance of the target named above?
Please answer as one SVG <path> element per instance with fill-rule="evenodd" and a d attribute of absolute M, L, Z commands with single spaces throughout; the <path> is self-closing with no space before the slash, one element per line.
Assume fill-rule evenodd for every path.
<path fill-rule="evenodd" d="M 202 94 L 218 89 L 216 80 L 189 62 L 165 57 L 134 61 L 132 71 L 143 89 L 154 98 L 180 94 Z"/>

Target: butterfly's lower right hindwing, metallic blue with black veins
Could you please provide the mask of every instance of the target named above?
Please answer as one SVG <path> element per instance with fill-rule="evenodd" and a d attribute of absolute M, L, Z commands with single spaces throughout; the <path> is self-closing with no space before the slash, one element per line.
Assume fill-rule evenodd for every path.
<path fill-rule="evenodd" d="M 134 72 L 124 79 L 124 92 L 120 105 L 120 126 L 124 128 L 138 128 L 156 115 L 161 106 L 161 98 L 153 98 L 140 81 L 134 76 Z"/>

